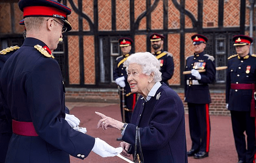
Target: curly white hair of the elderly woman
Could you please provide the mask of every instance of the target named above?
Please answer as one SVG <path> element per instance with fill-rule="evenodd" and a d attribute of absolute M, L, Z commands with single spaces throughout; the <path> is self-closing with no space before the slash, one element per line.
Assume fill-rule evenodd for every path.
<path fill-rule="evenodd" d="M 124 62 L 124 66 L 126 66 L 126 71 L 128 69 L 129 64 L 136 63 L 142 66 L 142 73 L 145 75 L 150 75 L 150 73 L 154 73 L 154 81 L 160 82 L 162 80 L 162 73 L 160 72 L 160 62 L 155 56 L 149 52 L 139 52 L 134 53 L 127 58 Z"/>

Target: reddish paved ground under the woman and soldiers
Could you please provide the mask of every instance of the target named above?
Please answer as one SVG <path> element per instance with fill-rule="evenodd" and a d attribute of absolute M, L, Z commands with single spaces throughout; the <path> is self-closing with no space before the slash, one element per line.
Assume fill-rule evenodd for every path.
<path fill-rule="evenodd" d="M 70 114 L 74 114 L 80 120 L 80 127 L 87 128 L 87 134 L 99 137 L 114 147 L 118 147 L 120 141 L 120 131 L 116 129 L 96 129 L 96 124 L 100 119 L 94 112 L 101 112 L 107 116 L 121 120 L 120 108 L 118 104 L 109 103 L 71 103 L 66 105 L 70 108 Z M 191 148 L 191 140 L 188 128 L 188 115 L 185 115 L 187 148 Z M 211 137 L 209 157 L 204 159 L 193 159 L 188 157 L 188 163 L 237 163 L 237 154 L 232 133 L 231 118 L 229 116 L 210 116 Z M 131 157 L 129 159 L 132 159 Z M 71 163 L 127 163 L 118 157 L 102 158 L 91 152 L 84 160 L 70 157 Z"/>

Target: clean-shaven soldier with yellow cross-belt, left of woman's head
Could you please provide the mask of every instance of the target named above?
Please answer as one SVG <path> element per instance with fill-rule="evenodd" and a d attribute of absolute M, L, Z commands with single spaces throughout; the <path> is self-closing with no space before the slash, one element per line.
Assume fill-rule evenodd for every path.
<path fill-rule="evenodd" d="M 123 108 L 123 97 L 122 92 L 120 92 L 120 108 L 121 108 L 121 115 L 122 120 L 125 123 L 131 122 L 131 114 L 133 111 L 133 108 L 137 101 L 137 93 L 132 93 L 131 88 L 127 82 L 127 72 L 125 70 L 126 67 L 123 66 L 123 63 L 129 56 L 131 56 L 131 45 L 133 44 L 133 41 L 129 37 L 122 37 L 118 40 L 119 46 L 121 48 L 122 56 L 119 56 L 116 58 L 117 66 L 114 69 L 114 80 L 118 86 L 121 88 L 124 88 L 125 90 L 125 108 Z M 123 109 L 125 109 L 125 117 L 123 117 Z M 125 118 L 125 119 L 124 119 Z M 122 138 L 117 138 L 117 140 L 122 140 Z"/>

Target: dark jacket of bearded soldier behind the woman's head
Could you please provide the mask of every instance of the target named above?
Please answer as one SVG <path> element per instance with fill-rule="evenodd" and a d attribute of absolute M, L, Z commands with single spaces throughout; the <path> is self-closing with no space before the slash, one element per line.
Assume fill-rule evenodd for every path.
<path fill-rule="evenodd" d="M 168 51 L 160 50 L 153 53 L 153 55 L 155 55 L 160 62 L 160 71 L 162 73 L 161 82 L 164 82 L 168 86 L 168 80 L 171 79 L 174 71 L 173 54 L 169 53 Z"/>

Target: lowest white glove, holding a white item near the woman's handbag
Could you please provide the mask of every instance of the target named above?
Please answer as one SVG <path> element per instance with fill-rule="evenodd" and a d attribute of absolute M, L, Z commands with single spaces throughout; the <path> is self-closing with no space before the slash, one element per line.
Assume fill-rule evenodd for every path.
<path fill-rule="evenodd" d="M 100 138 L 95 138 L 95 143 L 92 151 L 101 157 L 114 157 L 123 151 L 122 147 L 114 148 L 101 140 Z"/>

